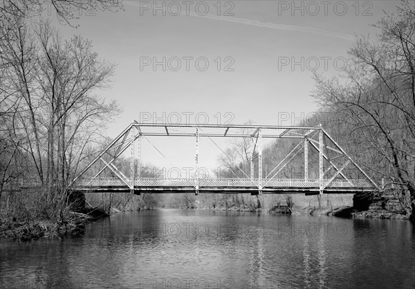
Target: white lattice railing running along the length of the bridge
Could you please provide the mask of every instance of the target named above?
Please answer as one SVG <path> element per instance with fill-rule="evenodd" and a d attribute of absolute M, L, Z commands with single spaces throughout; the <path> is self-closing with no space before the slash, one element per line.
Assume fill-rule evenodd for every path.
<path fill-rule="evenodd" d="M 127 178 L 130 184 L 131 180 Z M 319 179 L 269 179 L 262 180 L 264 187 L 320 187 Z M 329 180 L 323 180 L 326 186 Z M 75 187 L 124 187 L 127 186 L 119 178 L 83 179 L 75 183 Z M 134 180 L 134 187 L 195 187 L 195 178 L 140 178 Z M 254 178 L 199 178 L 199 187 L 258 187 L 259 179 Z M 327 187 L 374 187 L 367 180 L 332 180 Z"/>

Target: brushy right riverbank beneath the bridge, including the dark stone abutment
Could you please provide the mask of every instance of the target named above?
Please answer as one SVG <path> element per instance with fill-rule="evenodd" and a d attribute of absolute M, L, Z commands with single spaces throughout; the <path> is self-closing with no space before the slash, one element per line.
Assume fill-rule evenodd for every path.
<path fill-rule="evenodd" d="M 223 197 L 222 197 L 223 198 Z M 261 195 L 257 207 L 257 196 L 229 198 L 218 202 L 212 197 L 201 197 L 192 203 L 197 209 L 227 210 L 237 212 L 269 212 L 270 214 L 295 214 L 311 216 L 338 216 L 342 218 L 381 218 L 409 220 L 410 215 L 401 207 L 396 192 L 363 195 L 354 200 L 353 194 L 302 194 Z M 216 202 L 212 202 L 212 199 Z M 183 208 L 183 207 L 182 207 Z"/>

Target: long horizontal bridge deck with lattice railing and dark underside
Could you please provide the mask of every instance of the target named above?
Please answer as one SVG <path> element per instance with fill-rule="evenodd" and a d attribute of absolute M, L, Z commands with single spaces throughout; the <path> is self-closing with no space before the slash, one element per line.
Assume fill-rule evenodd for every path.
<path fill-rule="evenodd" d="M 197 183 L 196 183 L 197 182 Z M 131 192 L 131 180 L 118 178 L 95 178 L 79 180 L 74 184 L 75 190 L 83 192 Z M 261 189 L 259 189 L 261 188 Z M 367 180 L 322 180 L 324 193 L 351 194 L 353 192 L 372 192 L 376 190 Z M 319 193 L 318 179 L 259 179 L 247 178 L 140 178 L 134 180 L 133 192 L 195 192 L 201 193 L 255 193 L 264 194 Z"/>

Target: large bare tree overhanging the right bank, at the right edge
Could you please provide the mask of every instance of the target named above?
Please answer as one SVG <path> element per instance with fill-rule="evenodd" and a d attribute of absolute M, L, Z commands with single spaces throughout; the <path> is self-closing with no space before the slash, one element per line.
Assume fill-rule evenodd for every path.
<path fill-rule="evenodd" d="M 313 94 L 320 104 L 347 116 L 360 151 L 370 152 L 369 167 L 402 189 L 408 214 L 415 214 L 415 10 L 402 1 L 376 27 L 378 41 L 365 37 L 349 50 L 346 83 L 315 75 Z M 370 157 L 370 158 L 369 158 Z M 376 161 L 375 161 L 376 160 Z"/>

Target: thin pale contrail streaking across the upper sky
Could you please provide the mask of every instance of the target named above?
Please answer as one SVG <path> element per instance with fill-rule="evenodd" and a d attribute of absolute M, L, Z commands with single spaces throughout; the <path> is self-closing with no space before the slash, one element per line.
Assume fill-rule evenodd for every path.
<path fill-rule="evenodd" d="M 123 3 L 126 3 L 129 6 L 140 7 L 138 3 L 134 3 L 132 1 L 124 1 Z M 317 35 L 337 37 L 337 38 L 346 39 L 346 40 L 354 39 L 353 35 L 339 33 L 339 32 L 331 32 L 329 30 L 318 29 L 318 28 L 275 24 L 271 22 L 260 22 L 258 20 L 250 20 L 250 19 L 239 18 L 239 17 L 224 17 L 224 16 L 211 15 L 211 14 L 198 15 L 195 12 L 190 12 L 190 11 L 181 11 L 179 14 L 185 15 L 185 16 L 191 16 L 191 17 L 202 17 L 202 18 L 208 18 L 208 19 L 214 19 L 214 20 L 220 20 L 220 21 L 228 21 L 228 22 L 234 22 L 234 23 L 239 23 L 239 24 L 246 24 L 249 26 L 264 27 L 264 28 L 270 28 L 270 29 L 276 29 L 276 30 L 291 30 L 291 31 L 297 31 L 297 32 L 313 33 Z"/>

